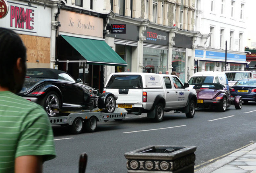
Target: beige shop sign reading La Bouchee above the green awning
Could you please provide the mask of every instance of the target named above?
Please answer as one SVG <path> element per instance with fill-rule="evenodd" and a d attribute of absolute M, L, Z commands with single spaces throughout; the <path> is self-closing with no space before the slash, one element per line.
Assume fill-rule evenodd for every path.
<path fill-rule="evenodd" d="M 103 38 L 103 19 L 60 10 L 59 32 Z"/>

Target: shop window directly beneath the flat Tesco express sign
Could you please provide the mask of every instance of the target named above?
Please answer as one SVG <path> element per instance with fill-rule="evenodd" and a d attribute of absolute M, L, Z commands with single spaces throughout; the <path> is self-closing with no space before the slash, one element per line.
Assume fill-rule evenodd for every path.
<path fill-rule="evenodd" d="M 167 70 L 168 50 L 143 47 L 143 72 L 163 73 Z"/>

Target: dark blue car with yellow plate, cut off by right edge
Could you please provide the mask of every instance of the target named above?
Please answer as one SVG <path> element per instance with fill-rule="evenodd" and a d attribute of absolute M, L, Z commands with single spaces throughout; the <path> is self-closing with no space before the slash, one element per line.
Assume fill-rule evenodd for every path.
<path fill-rule="evenodd" d="M 237 82 L 230 88 L 231 97 L 237 95 L 242 96 L 242 101 L 256 101 L 256 79 L 243 79 Z"/>

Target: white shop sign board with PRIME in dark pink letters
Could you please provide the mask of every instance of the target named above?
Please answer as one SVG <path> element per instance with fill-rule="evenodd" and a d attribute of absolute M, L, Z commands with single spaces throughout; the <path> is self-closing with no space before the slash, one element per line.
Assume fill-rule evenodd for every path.
<path fill-rule="evenodd" d="M 50 38 L 51 8 L 8 0 L 8 12 L 4 18 L 0 18 L 0 27 L 12 29 L 19 34 Z"/>

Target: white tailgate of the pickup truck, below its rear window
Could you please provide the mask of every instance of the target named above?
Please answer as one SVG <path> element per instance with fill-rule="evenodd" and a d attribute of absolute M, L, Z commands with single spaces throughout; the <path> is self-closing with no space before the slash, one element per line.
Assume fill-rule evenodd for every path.
<path fill-rule="evenodd" d="M 142 104 L 142 90 L 141 89 L 106 89 L 116 96 L 117 104 Z"/>

